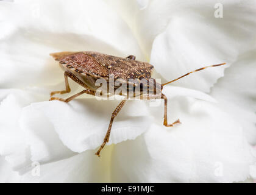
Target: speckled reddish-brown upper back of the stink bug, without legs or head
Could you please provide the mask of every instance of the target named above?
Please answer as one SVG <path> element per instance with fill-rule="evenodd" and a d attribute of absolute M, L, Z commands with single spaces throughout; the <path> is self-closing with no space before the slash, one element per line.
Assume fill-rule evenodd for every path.
<path fill-rule="evenodd" d="M 146 62 L 131 60 L 98 52 L 58 52 L 50 54 L 68 68 L 77 73 L 86 73 L 94 77 L 105 78 L 113 74 L 115 79 L 149 79 L 154 66 Z"/>

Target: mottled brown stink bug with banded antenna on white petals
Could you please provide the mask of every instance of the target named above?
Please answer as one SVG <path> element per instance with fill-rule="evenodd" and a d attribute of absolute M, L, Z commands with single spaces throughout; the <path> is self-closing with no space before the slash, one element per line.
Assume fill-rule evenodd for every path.
<path fill-rule="evenodd" d="M 138 60 L 135 60 L 134 55 L 129 55 L 126 58 L 122 57 L 115 57 L 112 55 L 107 54 L 101 54 L 99 52 L 89 52 L 89 51 L 83 51 L 83 52 L 57 52 L 50 54 L 54 59 L 59 62 L 60 67 L 64 71 L 64 77 L 65 77 L 65 85 L 66 90 L 63 91 L 52 91 L 51 93 L 51 99 L 50 101 L 57 99 L 59 101 L 69 102 L 72 99 L 76 98 L 80 94 L 91 94 L 93 96 L 96 96 L 96 91 L 99 88 L 96 86 L 96 80 L 97 79 L 105 79 L 107 82 L 107 88 L 108 88 L 108 96 L 113 95 L 113 92 L 115 92 L 116 88 L 114 87 L 114 90 L 110 92 L 110 74 L 113 75 L 113 79 L 121 79 L 123 83 L 127 84 L 127 93 L 122 93 L 122 96 L 126 96 L 127 99 L 134 98 L 135 96 L 139 96 L 140 98 L 146 99 L 164 99 L 165 101 L 165 112 L 164 112 L 164 120 L 163 125 L 166 127 L 171 127 L 174 124 L 180 123 L 179 119 L 177 119 L 175 122 L 172 122 L 171 124 L 168 124 L 167 122 L 167 98 L 165 94 L 162 93 L 162 89 L 164 85 L 167 85 L 168 83 L 174 82 L 176 80 L 181 79 L 182 77 L 187 76 L 188 74 L 194 73 L 196 71 L 201 71 L 202 69 L 208 68 L 208 67 L 214 67 L 214 66 L 221 66 L 225 63 L 221 63 L 218 65 L 212 65 L 212 66 L 205 66 L 203 68 L 196 69 L 194 71 L 191 71 L 190 73 L 184 74 L 183 76 L 171 80 L 167 83 L 157 83 L 151 78 L 152 69 L 154 66 L 147 62 L 140 62 Z M 62 99 L 62 98 L 55 98 L 52 97 L 56 93 L 64 94 L 69 93 L 71 90 L 69 88 L 68 83 L 68 77 L 73 79 L 75 82 L 79 83 L 79 85 L 82 85 L 82 87 L 85 88 L 85 90 L 80 91 L 77 94 L 74 94 L 73 96 Z M 137 79 L 138 81 L 145 80 L 146 82 L 141 82 L 140 85 L 138 83 L 130 82 L 130 79 Z M 153 88 L 149 89 L 149 85 L 152 84 Z M 131 87 L 132 86 L 132 87 Z M 135 91 L 135 87 L 138 87 L 140 89 L 140 93 L 129 93 L 130 90 Z M 142 88 L 148 88 L 149 91 L 146 93 Z M 157 89 L 160 89 L 160 94 L 157 94 Z M 151 92 L 151 93 L 149 93 Z M 108 126 L 107 133 L 105 135 L 104 141 L 101 144 L 98 152 L 96 152 L 96 155 L 100 156 L 100 152 L 105 146 L 105 144 L 108 142 L 108 139 L 110 137 L 110 130 L 112 127 L 112 123 L 116 115 L 118 115 L 121 108 L 124 106 L 127 99 L 124 99 L 120 102 L 120 104 L 116 107 L 114 112 L 112 113 L 110 124 Z"/>

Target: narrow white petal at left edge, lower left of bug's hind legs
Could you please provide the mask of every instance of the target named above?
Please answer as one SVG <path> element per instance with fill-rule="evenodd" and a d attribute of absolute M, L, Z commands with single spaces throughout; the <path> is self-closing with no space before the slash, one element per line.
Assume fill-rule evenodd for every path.
<path fill-rule="evenodd" d="M 24 93 L 19 94 L 24 96 Z M 14 169 L 19 169 L 30 161 L 24 133 L 18 124 L 21 108 L 26 104 L 22 102 L 24 99 L 9 94 L 0 105 L 0 155 L 5 156 Z"/>

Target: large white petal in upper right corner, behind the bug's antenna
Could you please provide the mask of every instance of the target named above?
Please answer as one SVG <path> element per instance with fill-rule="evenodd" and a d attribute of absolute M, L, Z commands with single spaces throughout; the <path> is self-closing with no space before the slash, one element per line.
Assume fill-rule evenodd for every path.
<path fill-rule="evenodd" d="M 166 80 L 202 66 L 230 64 L 252 48 L 255 1 L 220 2 L 224 7 L 223 18 L 215 18 L 215 1 L 151 1 L 138 14 L 141 45 Z M 207 69 L 173 84 L 208 92 L 223 72 L 223 67 Z"/>

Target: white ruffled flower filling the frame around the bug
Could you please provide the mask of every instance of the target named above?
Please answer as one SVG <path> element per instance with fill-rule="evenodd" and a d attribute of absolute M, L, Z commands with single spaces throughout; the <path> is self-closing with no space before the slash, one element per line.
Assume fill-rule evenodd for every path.
<path fill-rule="evenodd" d="M 256 4 L 220 3 L 223 18 L 215 18 L 215 1 L 1 1 L 0 180 L 255 177 Z M 155 66 L 162 82 L 204 65 L 228 66 L 166 85 L 168 120 L 182 122 L 175 127 L 163 126 L 163 102 L 128 101 L 98 158 L 94 152 L 119 101 L 85 95 L 49 102 L 49 93 L 65 86 L 49 56 L 59 51 L 136 55 Z M 82 89 L 70 83 L 72 94 Z"/>

